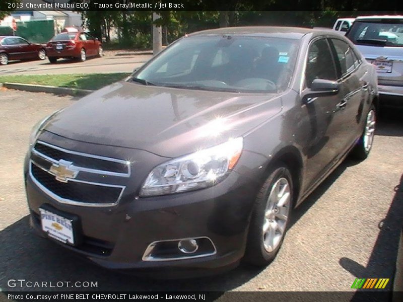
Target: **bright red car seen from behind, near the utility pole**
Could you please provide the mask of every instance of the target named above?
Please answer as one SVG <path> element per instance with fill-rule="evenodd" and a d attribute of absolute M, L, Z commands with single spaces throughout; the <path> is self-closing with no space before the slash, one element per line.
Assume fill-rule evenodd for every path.
<path fill-rule="evenodd" d="M 102 44 L 98 39 L 84 32 L 62 32 L 55 35 L 46 45 L 50 63 L 59 58 L 78 58 L 84 62 L 87 57 L 103 55 Z"/>

